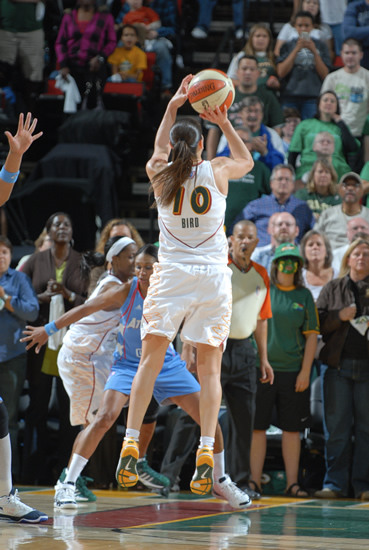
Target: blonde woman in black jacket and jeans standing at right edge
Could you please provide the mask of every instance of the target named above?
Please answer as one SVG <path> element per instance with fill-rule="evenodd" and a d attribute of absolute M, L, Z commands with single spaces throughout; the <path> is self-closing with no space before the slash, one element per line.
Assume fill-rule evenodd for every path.
<path fill-rule="evenodd" d="M 323 392 L 326 473 L 318 498 L 369 500 L 369 240 L 347 249 L 340 278 L 317 301 L 324 346 Z M 355 445 L 353 446 L 353 437 Z"/>

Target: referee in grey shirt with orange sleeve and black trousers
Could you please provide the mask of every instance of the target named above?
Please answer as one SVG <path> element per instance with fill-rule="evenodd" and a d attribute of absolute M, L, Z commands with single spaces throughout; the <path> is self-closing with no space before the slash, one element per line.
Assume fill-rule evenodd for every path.
<path fill-rule="evenodd" d="M 272 316 L 269 277 L 251 260 L 258 244 L 256 226 L 241 220 L 233 229 L 229 267 L 232 275 L 232 318 L 223 353 L 221 384 L 227 405 L 226 464 L 232 479 L 250 498 L 260 494 L 250 482 L 250 447 L 255 415 L 256 350 L 262 383 L 273 383 L 267 357 L 267 320 Z M 247 316 L 245 316 L 247 311 Z M 254 340 L 255 338 L 255 340 Z"/>

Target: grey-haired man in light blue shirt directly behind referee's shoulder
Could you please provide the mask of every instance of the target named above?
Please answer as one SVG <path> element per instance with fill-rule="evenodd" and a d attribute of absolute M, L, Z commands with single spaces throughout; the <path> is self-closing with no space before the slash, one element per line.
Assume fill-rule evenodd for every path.
<path fill-rule="evenodd" d="M 275 249 L 282 243 L 294 243 L 298 232 L 299 228 L 292 214 L 288 212 L 272 214 L 268 224 L 270 243 L 259 246 L 253 252 L 252 260 L 265 267 L 269 274 Z"/>

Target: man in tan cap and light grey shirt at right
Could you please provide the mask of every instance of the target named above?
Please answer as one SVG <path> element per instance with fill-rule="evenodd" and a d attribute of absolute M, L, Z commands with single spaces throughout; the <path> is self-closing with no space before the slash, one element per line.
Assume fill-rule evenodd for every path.
<path fill-rule="evenodd" d="M 332 249 L 349 245 L 347 223 L 353 218 L 364 218 L 369 222 L 369 208 L 361 204 L 364 194 L 363 182 L 355 172 L 344 174 L 338 184 L 342 204 L 327 208 L 320 215 L 314 229 L 325 233 Z"/>

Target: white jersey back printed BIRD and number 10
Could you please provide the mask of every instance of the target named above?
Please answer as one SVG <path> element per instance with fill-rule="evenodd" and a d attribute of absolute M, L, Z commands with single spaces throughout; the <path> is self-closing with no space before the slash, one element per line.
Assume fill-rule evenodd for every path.
<path fill-rule="evenodd" d="M 209 161 L 193 167 L 169 206 L 158 201 L 161 263 L 227 264 L 226 195 Z"/>

